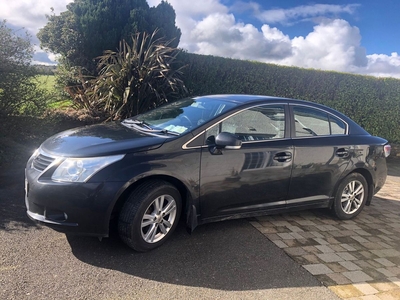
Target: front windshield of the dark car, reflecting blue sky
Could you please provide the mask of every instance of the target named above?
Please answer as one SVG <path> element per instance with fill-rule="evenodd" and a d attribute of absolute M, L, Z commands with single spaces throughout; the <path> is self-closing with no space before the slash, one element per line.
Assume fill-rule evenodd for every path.
<path fill-rule="evenodd" d="M 222 99 L 186 98 L 126 119 L 122 124 L 142 131 L 180 135 L 236 105 Z"/>

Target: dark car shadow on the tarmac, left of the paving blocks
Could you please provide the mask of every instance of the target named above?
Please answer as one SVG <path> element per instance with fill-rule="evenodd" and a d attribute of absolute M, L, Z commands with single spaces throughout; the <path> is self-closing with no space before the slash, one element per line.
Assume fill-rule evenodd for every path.
<path fill-rule="evenodd" d="M 321 286 L 246 220 L 203 225 L 192 234 L 181 222 L 166 244 L 147 253 L 131 250 L 115 234 L 101 243 L 67 238 L 85 263 L 158 282 L 229 291 Z"/>

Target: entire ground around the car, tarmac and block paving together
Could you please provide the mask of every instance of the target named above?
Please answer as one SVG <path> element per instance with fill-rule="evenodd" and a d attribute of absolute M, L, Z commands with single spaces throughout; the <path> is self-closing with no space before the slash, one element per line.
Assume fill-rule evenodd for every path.
<path fill-rule="evenodd" d="M 0 299 L 400 299 L 400 160 L 352 221 L 306 211 L 198 227 L 136 253 L 26 217 L 23 167 L 0 171 Z"/>

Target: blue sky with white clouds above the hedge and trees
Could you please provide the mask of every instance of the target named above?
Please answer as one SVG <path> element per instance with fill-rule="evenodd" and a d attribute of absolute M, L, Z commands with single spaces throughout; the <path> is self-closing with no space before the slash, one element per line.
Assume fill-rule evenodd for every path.
<path fill-rule="evenodd" d="M 34 63 L 55 64 L 36 33 L 70 0 L 14 0 L 0 19 L 32 34 Z M 150 6 L 161 0 L 148 0 Z M 191 53 L 400 78 L 399 0 L 168 0 Z"/>

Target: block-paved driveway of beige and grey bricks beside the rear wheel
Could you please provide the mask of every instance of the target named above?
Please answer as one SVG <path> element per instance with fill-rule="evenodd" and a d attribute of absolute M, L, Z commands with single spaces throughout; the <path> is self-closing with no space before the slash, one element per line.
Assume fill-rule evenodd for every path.
<path fill-rule="evenodd" d="M 400 299 L 400 160 L 355 219 L 324 210 L 256 218 L 251 224 L 344 299 Z"/>

